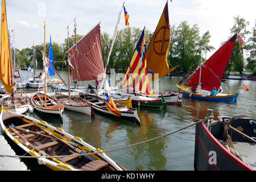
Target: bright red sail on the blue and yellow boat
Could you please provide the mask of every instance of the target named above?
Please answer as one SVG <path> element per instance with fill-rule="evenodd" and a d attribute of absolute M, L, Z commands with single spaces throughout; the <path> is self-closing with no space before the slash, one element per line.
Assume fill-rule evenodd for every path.
<path fill-rule="evenodd" d="M 218 51 L 216 51 L 204 64 L 201 65 L 201 89 L 218 89 L 221 84 L 223 73 L 229 63 L 230 56 L 236 42 L 237 34 L 228 40 Z M 199 85 L 200 68 L 184 83 L 185 86 Z"/>

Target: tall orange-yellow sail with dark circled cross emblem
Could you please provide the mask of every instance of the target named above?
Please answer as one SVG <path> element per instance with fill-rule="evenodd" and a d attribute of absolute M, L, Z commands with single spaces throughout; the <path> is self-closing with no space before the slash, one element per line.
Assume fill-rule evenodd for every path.
<path fill-rule="evenodd" d="M 166 76 L 168 73 L 174 71 L 176 68 L 170 69 L 167 62 L 167 55 L 170 45 L 170 23 L 168 14 L 168 1 L 164 7 L 163 14 L 160 17 L 158 26 L 152 36 L 150 45 L 147 49 L 147 67 L 154 73 L 152 74 L 152 81 L 157 78 Z M 159 77 L 155 77 L 158 73 Z"/>

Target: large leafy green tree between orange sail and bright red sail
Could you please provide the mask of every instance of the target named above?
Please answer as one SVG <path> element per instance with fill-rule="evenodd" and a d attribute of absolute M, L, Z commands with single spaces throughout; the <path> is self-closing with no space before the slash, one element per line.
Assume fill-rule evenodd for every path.
<path fill-rule="evenodd" d="M 210 32 L 207 31 L 201 37 L 197 24 L 192 27 L 187 21 L 183 21 L 176 28 L 170 27 L 171 39 L 168 61 L 172 65 L 180 65 L 177 71 L 187 72 L 201 60 L 201 53 L 206 50 L 210 42 Z"/>

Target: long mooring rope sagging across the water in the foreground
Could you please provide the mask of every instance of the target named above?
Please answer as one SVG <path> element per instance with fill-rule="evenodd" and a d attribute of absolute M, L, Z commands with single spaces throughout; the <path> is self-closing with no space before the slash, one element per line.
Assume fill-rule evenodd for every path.
<path fill-rule="evenodd" d="M 133 146 L 137 146 L 139 144 L 143 144 L 143 143 L 147 143 L 147 142 L 151 142 L 152 140 L 156 140 L 156 139 L 160 139 L 160 138 L 163 138 L 163 137 L 167 137 L 168 135 L 172 135 L 172 134 L 175 134 L 181 130 L 185 130 L 187 129 L 188 127 L 191 127 L 191 126 L 194 126 L 196 125 L 197 123 L 200 123 L 200 122 L 204 122 L 204 121 L 208 121 L 208 119 L 211 119 L 213 118 L 213 116 L 209 116 L 205 119 L 201 119 L 199 121 L 196 121 L 194 123 L 192 123 L 191 125 L 188 125 L 188 126 L 185 126 L 185 127 L 182 127 L 181 129 L 178 129 L 178 130 L 175 130 L 175 131 L 172 131 L 170 133 L 167 133 L 167 134 L 164 134 L 164 135 L 160 135 L 159 137 L 155 137 L 155 138 L 151 138 L 151 139 L 148 139 L 148 140 L 144 140 L 142 142 L 138 142 L 138 143 L 134 143 L 134 144 L 130 144 L 128 146 L 123 146 L 123 147 L 118 147 L 118 148 L 113 148 L 113 149 L 110 149 L 110 150 L 105 150 L 105 151 L 99 151 L 99 152 L 88 152 L 86 154 L 72 154 L 72 155 L 56 155 L 56 156 L 46 156 L 46 155 L 42 155 L 42 156 L 23 156 L 23 155 L 0 155 L 0 157 L 10 157 L 10 158 L 64 158 L 66 156 L 84 156 L 84 155 L 92 155 L 92 154 L 100 154 L 100 153 L 105 153 L 105 152 L 111 152 L 111 151 L 115 151 L 115 150 L 121 150 L 121 149 L 124 149 L 124 148 L 129 148 L 129 147 L 133 147 Z M 43 152 L 43 151 L 42 151 Z"/>

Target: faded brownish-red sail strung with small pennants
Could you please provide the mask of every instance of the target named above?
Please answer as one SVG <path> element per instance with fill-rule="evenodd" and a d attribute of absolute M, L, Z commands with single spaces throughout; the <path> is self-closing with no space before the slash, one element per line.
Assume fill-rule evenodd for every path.
<path fill-rule="evenodd" d="M 104 73 L 100 24 L 69 49 L 73 80 L 95 80 Z"/>

